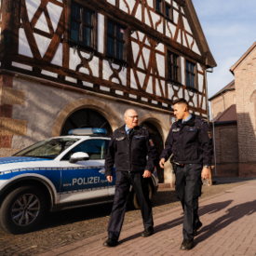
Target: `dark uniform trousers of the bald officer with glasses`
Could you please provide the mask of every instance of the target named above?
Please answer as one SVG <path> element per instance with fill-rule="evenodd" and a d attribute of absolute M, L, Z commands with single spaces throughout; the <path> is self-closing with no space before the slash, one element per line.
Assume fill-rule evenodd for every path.
<path fill-rule="evenodd" d="M 108 223 L 109 238 L 118 240 L 126 213 L 130 185 L 134 189 L 143 219 L 144 229 L 153 227 L 151 201 L 148 196 L 148 179 L 142 177 L 142 172 L 116 171 L 115 199 Z"/>

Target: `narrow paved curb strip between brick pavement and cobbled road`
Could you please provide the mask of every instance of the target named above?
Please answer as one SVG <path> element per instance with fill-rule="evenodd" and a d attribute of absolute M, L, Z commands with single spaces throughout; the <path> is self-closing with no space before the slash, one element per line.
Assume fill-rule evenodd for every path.
<path fill-rule="evenodd" d="M 215 198 L 215 197 L 218 197 L 218 196 L 221 196 L 221 195 L 224 195 L 227 191 L 232 191 L 232 190 L 236 190 L 236 189 L 239 189 L 245 185 L 248 184 L 249 181 L 247 181 L 245 184 L 242 184 L 242 185 L 239 185 L 239 186 L 236 186 L 234 188 L 231 188 L 229 190 L 225 190 L 224 192 L 220 193 L 220 194 L 217 194 L 217 195 L 211 195 L 209 197 L 206 197 L 206 198 L 203 198 L 203 199 L 199 199 L 199 203 L 204 203 L 205 201 L 209 201 L 210 199 L 212 198 Z M 174 212 L 177 212 L 179 210 L 182 210 L 182 207 L 175 207 L 174 209 L 168 209 L 167 211 L 164 211 L 164 212 L 160 212 L 160 213 L 157 213 L 154 215 L 154 219 L 158 219 L 158 218 L 161 218 L 163 216 L 166 216 L 168 214 L 171 214 L 171 213 L 174 213 Z M 136 222 L 132 222 L 132 223 L 128 223 L 126 224 L 125 226 L 123 226 L 122 228 L 122 231 L 126 231 L 128 229 L 131 229 L 139 224 L 142 224 L 142 220 L 141 221 L 136 221 Z M 142 232 L 142 230 L 141 230 Z M 68 251 L 72 251 L 73 249 L 78 249 L 78 248 L 81 248 L 83 246 L 86 246 L 88 245 L 89 243 L 93 243 L 93 242 L 97 242 L 99 240 L 103 240 L 106 239 L 108 237 L 108 234 L 107 232 L 104 232 L 104 233 L 101 233 L 99 235 L 96 235 L 96 236 L 91 236 L 91 237 L 88 237 L 88 238 L 85 238 L 83 240 L 80 240 L 80 241 L 77 241 L 77 242 L 74 242 L 74 243 L 71 243 L 71 244 L 68 244 L 68 245 L 65 245 L 63 247 L 60 247 L 58 249 L 53 249 L 53 250 L 49 250 L 47 252 L 44 252 L 42 254 L 38 254 L 38 256 L 58 256 L 58 255 L 61 255 L 63 253 L 66 253 Z"/>

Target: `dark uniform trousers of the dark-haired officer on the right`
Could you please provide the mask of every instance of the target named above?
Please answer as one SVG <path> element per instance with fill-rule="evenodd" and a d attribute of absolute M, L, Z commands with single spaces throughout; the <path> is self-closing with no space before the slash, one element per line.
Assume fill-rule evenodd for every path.
<path fill-rule="evenodd" d="M 176 166 L 175 190 L 178 199 L 181 200 L 183 217 L 183 238 L 194 239 L 194 229 L 201 222 L 198 216 L 198 197 L 201 195 L 202 181 L 201 164 L 187 164 Z"/>

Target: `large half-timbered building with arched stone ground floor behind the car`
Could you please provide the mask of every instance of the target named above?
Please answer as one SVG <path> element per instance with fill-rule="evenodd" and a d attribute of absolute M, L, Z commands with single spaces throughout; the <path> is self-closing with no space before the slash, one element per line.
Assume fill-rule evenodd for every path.
<path fill-rule="evenodd" d="M 111 134 L 130 107 L 160 153 L 173 101 L 208 118 L 216 62 L 192 0 L 2 0 L 0 16 L 0 155 L 74 127 Z"/>

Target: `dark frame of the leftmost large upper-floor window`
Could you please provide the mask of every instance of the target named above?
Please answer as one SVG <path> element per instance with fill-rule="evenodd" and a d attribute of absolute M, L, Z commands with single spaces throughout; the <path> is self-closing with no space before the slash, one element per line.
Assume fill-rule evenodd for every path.
<path fill-rule="evenodd" d="M 72 17 L 72 6 L 75 5 L 80 7 L 80 17 L 74 18 Z M 68 40 L 69 43 L 72 45 L 79 45 L 80 47 L 84 47 L 88 50 L 96 50 L 97 49 L 97 13 L 95 10 L 83 6 L 82 4 L 76 2 L 75 0 L 70 0 L 70 12 L 69 12 L 69 33 L 68 33 Z M 88 11 L 91 13 L 91 24 L 88 24 L 84 21 L 84 12 Z M 79 22 L 79 42 L 75 41 L 71 38 L 72 34 L 72 21 Z M 91 38 L 90 38 L 90 46 L 84 44 L 84 26 L 91 29 Z"/>

